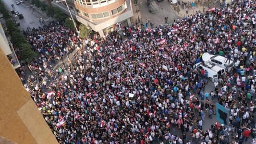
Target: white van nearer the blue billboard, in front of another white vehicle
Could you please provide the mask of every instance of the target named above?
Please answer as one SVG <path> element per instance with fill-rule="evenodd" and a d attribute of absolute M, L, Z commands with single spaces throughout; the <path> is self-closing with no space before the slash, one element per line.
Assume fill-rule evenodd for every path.
<path fill-rule="evenodd" d="M 218 82 L 218 77 L 225 73 L 225 70 L 223 67 L 220 67 L 218 64 L 210 61 L 199 62 L 195 64 L 195 69 L 198 72 L 201 72 L 202 69 L 207 70 L 208 72 L 208 78 L 212 82 Z"/>

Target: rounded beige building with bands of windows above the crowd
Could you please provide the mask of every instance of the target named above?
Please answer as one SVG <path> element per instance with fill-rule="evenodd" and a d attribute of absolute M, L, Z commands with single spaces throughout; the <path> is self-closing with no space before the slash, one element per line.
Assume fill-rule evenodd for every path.
<path fill-rule="evenodd" d="M 65 1 L 52 1 L 70 15 Z M 67 0 L 69 9 L 77 21 L 99 33 L 100 36 L 114 30 L 114 24 L 131 25 L 133 16 L 131 0 Z"/>

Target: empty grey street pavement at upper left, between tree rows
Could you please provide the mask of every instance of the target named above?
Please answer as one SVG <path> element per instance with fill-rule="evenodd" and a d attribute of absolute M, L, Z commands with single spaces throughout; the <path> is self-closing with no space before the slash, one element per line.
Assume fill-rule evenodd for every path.
<path fill-rule="evenodd" d="M 14 11 L 18 11 L 19 13 L 23 14 L 24 19 L 19 20 L 17 18 L 17 22 L 20 23 L 20 28 L 22 30 L 26 30 L 26 28 L 28 26 L 31 28 L 33 28 L 33 27 L 38 28 L 39 26 L 41 26 L 41 24 L 39 23 L 39 18 L 43 17 L 43 15 L 38 13 L 37 10 L 35 10 L 35 9 L 27 8 L 26 3 L 21 3 L 21 4 L 17 5 L 15 3 L 15 0 L 3 0 L 3 2 L 5 4 L 5 7 L 9 11 L 14 10 Z M 14 8 L 12 8 L 11 4 L 14 5 Z"/>

